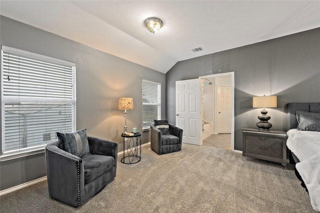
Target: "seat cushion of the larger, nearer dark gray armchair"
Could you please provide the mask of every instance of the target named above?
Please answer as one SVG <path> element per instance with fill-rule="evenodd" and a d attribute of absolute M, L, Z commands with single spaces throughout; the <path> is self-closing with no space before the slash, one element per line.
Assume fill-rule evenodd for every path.
<path fill-rule="evenodd" d="M 91 182 L 114 165 L 114 157 L 90 154 L 82 158 L 84 165 L 84 184 Z"/>

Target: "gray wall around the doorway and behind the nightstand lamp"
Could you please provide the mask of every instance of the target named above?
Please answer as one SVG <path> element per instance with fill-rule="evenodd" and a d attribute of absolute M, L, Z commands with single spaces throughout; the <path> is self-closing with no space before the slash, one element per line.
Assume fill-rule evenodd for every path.
<path fill-rule="evenodd" d="M 205 48 L 205 47 L 204 47 Z M 286 129 L 286 103 L 320 102 L 320 28 L 176 63 L 165 75 L 166 117 L 175 123 L 175 81 L 234 71 L 234 148 L 242 150 L 242 128 L 256 127 L 252 96 L 277 95 L 268 108 L 271 129 Z"/>

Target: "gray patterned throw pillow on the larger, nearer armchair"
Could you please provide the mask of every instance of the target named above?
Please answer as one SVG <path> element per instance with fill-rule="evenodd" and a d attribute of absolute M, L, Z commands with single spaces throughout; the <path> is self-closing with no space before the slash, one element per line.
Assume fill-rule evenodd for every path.
<path fill-rule="evenodd" d="M 80 158 L 90 154 L 85 128 L 72 133 L 56 132 L 56 136 L 59 139 L 59 147 L 62 150 Z"/>

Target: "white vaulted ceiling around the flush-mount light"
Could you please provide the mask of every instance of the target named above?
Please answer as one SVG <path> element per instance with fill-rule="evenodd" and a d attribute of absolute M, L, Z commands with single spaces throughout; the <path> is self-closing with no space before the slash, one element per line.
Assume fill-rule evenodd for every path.
<path fill-rule="evenodd" d="M 0 14 L 163 73 L 177 61 L 320 27 L 319 0 L 0 0 Z M 143 23 L 151 16 L 163 21 L 154 34 Z"/>

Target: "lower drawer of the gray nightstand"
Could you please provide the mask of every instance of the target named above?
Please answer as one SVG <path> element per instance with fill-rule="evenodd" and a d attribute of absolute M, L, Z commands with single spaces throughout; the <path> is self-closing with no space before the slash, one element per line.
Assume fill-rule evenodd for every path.
<path fill-rule="evenodd" d="M 280 145 L 282 145 L 280 143 Z M 282 148 L 268 147 L 263 145 L 246 144 L 245 151 L 252 154 L 259 154 L 269 157 L 282 158 Z"/>

